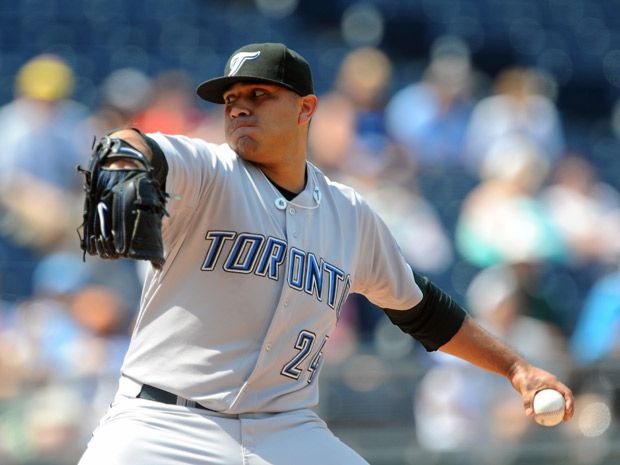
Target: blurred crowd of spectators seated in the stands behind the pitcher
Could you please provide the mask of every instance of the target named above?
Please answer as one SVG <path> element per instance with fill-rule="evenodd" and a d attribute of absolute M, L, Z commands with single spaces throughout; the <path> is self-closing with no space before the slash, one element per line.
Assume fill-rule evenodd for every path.
<path fill-rule="evenodd" d="M 562 434 L 604 438 L 620 413 L 618 186 L 571 146 L 545 73 L 486 75 L 452 36 L 433 43 L 411 82 L 393 88 L 393 73 L 379 48 L 345 54 L 319 95 L 310 160 L 368 199 L 414 269 L 574 386 L 581 403 Z M 72 100 L 74 70 L 60 56 L 19 69 L 0 108 L 0 463 L 74 463 L 107 407 L 143 270 L 84 260 L 76 165 L 119 127 L 223 142 L 220 109 L 199 106 L 195 84 L 180 69 L 119 68 L 93 108 Z M 351 296 L 326 369 L 417 364 L 403 387 L 412 441 L 434 452 L 501 443 L 509 455 L 532 434 L 505 381 L 423 353 L 388 325 Z M 345 382 L 364 391 L 384 381 L 371 378 Z"/>

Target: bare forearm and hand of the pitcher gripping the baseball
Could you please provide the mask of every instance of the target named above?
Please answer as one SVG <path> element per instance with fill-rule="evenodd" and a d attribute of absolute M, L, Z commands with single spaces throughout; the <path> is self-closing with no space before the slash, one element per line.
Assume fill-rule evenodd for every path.
<path fill-rule="evenodd" d="M 505 376 L 521 394 L 525 413 L 534 415 L 534 395 L 545 388 L 559 391 L 566 401 L 564 421 L 573 416 L 574 399 L 571 390 L 553 374 L 530 364 L 513 349 L 482 329 L 467 317 L 454 336 L 439 348 L 480 368 Z"/>

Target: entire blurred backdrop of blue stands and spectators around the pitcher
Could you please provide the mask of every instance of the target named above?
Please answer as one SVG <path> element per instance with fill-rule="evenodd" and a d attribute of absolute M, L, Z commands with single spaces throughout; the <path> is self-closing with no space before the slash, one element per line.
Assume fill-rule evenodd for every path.
<path fill-rule="evenodd" d="M 490 374 L 352 296 L 321 415 L 373 465 L 620 463 L 620 1 L 0 0 L 0 464 L 76 463 L 143 269 L 82 261 L 78 163 L 131 125 L 222 141 L 194 88 L 281 41 L 320 98 L 311 160 L 403 253 L 577 395 L 544 429 Z"/>

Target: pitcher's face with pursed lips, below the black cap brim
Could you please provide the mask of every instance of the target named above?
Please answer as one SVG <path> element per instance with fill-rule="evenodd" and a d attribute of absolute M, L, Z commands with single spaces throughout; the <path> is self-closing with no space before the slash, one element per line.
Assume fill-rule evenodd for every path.
<path fill-rule="evenodd" d="M 277 85 L 233 85 L 224 93 L 226 141 L 246 160 L 277 162 L 298 143 L 303 101 Z"/>

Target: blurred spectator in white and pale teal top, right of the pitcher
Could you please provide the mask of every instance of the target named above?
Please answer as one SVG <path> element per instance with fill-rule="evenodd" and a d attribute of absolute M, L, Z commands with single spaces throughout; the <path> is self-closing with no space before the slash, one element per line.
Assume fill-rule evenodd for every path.
<path fill-rule="evenodd" d="M 494 143 L 480 167 L 482 183 L 465 198 L 456 244 L 470 263 L 559 260 L 562 238 L 537 194 L 548 171 L 539 148 L 524 138 Z"/>

